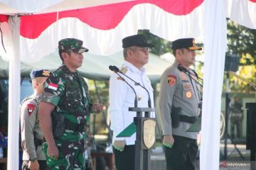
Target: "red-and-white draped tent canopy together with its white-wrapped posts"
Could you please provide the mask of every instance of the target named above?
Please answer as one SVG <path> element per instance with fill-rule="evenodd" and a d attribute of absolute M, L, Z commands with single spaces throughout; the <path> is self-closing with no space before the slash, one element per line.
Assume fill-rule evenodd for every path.
<path fill-rule="evenodd" d="M 48 0 L 41 2 L 38 6 L 36 3 L 39 2 L 36 0 L 29 1 L 29 4 L 28 0 L 0 0 L 0 5 L 4 5 L 6 10 L 10 8 L 14 10 L 4 11 L 7 14 L 30 13 L 29 6 L 37 7 L 33 13 L 41 13 L 44 9 L 51 7 L 50 11 L 58 11 L 59 9 L 54 7 L 65 2 L 73 3 L 73 1 Z M 102 4 L 105 2 L 102 1 Z M 62 9 L 70 8 L 63 6 Z M 9 146 L 11 147 L 8 151 L 8 169 L 18 169 L 19 97 L 16 94 L 20 94 L 20 91 L 15 85 L 20 81 L 20 61 L 39 61 L 57 49 L 58 40 L 68 37 L 83 40 L 85 46 L 89 47 L 90 52 L 94 54 L 110 55 L 121 50 L 122 38 L 136 34 L 138 29 L 149 29 L 151 33 L 166 40 L 186 37 L 203 40 L 206 59 L 203 75 L 200 164 L 201 169 L 218 169 L 220 97 L 227 44 L 225 18 L 228 16 L 243 26 L 256 29 L 255 9 L 255 0 L 139 0 L 38 16 L 14 16 L 9 18 L 8 23 L 0 20 L 7 51 L 7 53 L 4 52 L 0 45 L 0 55 L 10 61 L 9 103 L 13 103 L 12 106 L 9 105 L 9 125 L 12 126 L 9 127 Z M 109 12 L 105 13 L 107 10 Z M 3 12 L 0 11 L 0 13 Z M 79 18 L 77 17 L 79 13 L 85 14 Z M 40 18 L 39 22 L 36 21 L 36 17 Z M 52 19 L 53 22 L 46 25 L 47 18 Z M 100 18 L 102 20 L 98 20 Z M 45 27 L 36 33 L 42 29 L 41 26 Z"/>

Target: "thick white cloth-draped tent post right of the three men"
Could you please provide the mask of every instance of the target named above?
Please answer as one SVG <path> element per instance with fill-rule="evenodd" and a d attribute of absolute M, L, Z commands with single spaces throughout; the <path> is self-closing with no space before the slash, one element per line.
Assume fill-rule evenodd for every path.
<path fill-rule="evenodd" d="M 227 48 L 227 23 L 223 0 L 206 0 L 205 8 L 200 169 L 219 169 L 220 107 Z"/>

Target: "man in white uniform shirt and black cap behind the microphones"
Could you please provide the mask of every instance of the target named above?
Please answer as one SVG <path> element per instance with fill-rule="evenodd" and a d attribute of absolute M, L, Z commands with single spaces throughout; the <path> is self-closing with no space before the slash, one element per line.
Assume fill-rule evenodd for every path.
<path fill-rule="evenodd" d="M 149 91 L 152 101 L 151 106 L 154 107 L 153 89 L 143 68 L 144 64 L 149 61 L 149 47 L 153 47 L 153 45 L 146 41 L 144 35 L 132 35 L 122 40 L 122 47 L 124 48 L 125 61 L 120 71 Z M 122 74 L 120 75 L 121 77 L 112 74 L 110 77 L 110 128 L 113 130 L 112 142 L 116 169 L 131 170 L 134 169 L 136 133 L 131 137 L 117 137 L 117 135 L 127 128 L 136 117 L 136 112 L 128 111 L 128 108 L 134 107 L 135 98 L 134 91 L 130 86 L 136 91 L 138 107 L 148 107 L 149 95 L 145 89 L 136 85 L 134 81 Z M 150 117 L 154 118 L 154 113 L 151 113 Z"/>

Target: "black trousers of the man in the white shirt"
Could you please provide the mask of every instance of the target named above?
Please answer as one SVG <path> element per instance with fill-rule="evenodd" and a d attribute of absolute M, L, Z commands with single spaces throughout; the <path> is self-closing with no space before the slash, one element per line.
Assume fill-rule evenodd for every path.
<path fill-rule="evenodd" d="M 113 147 L 113 152 L 116 170 L 134 170 L 135 145 L 125 145 L 122 152 Z"/>

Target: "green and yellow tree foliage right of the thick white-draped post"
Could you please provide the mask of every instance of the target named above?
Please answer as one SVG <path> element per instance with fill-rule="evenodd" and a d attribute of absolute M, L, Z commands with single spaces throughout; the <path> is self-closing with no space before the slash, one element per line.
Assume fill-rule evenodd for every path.
<path fill-rule="evenodd" d="M 249 81 L 256 83 L 256 30 L 245 28 L 228 20 L 228 50 L 229 54 L 240 57 L 237 74 Z M 231 91 L 255 91 L 244 81 L 230 77 Z"/>

